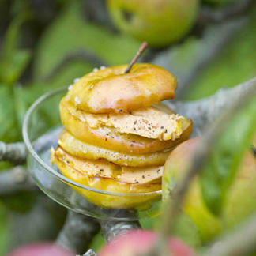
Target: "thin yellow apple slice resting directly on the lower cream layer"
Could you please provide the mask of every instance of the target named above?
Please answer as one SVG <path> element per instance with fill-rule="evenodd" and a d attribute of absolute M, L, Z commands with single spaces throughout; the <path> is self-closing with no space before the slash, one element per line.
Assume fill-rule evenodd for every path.
<path fill-rule="evenodd" d="M 114 164 L 134 167 L 164 165 L 171 152 L 167 150 L 140 155 L 124 154 L 80 141 L 65 129 L 58 137 L 58 145 L 73 156 L 92 160 L 104 158 Z"/>

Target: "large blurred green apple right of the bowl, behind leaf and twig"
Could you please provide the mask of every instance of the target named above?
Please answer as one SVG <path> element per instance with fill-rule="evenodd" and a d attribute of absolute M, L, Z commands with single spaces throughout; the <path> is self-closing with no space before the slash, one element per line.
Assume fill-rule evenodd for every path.
<path fill-rule="evenodd" d="M 200 138 L 184 141 L 174 149 L 164 166 L 164 197 L 175 190 L 189 168 L 191 157 Z M 252 151 L 247 151 L 240 164 L 239 171 L 228 189 L 220 217 L 209 211 L 201 194 L 198 177 L 190 184 L 183 203 L 183 210 L 198 226 L 201 241 L 207 242 L 220 232 L 226 232 L 241 223 L 256 211 L 256 158 Z"/>

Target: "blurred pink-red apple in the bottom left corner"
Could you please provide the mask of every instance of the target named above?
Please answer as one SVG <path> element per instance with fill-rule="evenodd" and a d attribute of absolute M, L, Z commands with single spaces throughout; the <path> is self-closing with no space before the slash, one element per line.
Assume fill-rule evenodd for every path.
<path fill-rule="evenodd" d="M 55 243 L 44 242 L 18 247 L 6 256 L 75 256 L 75 254 Z"/>

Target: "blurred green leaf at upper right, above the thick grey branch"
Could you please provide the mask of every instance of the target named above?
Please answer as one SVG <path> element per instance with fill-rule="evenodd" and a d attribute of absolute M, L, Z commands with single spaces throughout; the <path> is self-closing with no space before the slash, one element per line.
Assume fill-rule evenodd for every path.
<path fill-rule="evenodd" d="M 186 90 L 187 100 L 213 95 L 222 87 L 233 87 L 255 76 L 255 26 L 256 9 L 254 8 L 247 24 L 191 82 Z"/>

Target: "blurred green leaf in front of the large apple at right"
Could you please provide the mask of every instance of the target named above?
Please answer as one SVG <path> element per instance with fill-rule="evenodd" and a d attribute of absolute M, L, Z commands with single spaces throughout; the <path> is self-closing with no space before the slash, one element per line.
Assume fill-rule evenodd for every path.
<path fill-rule="evenodd" d="M 206 205 L 219 215 L 244 153 L 250 149 L 256 130 L 256 99 L 239 111 L 220 135 L 201 172 L 201 190 Z"/>

